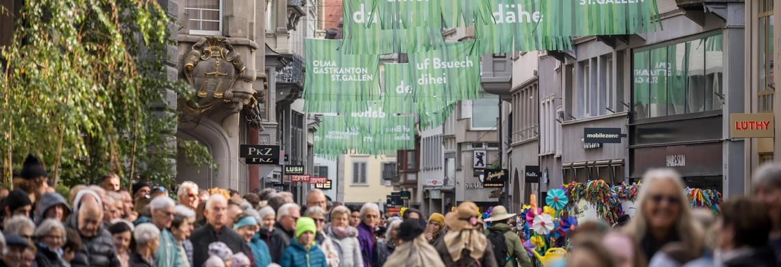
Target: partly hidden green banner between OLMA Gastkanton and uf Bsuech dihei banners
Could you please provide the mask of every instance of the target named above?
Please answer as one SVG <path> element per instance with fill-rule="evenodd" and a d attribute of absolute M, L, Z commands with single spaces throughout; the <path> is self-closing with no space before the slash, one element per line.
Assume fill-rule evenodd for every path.
<path fill-rule="evenodd" d="M 385 63 L 383 100 L 387 112 L 408 114 L 415 112 L 415 81 L 408 63 Z"/>

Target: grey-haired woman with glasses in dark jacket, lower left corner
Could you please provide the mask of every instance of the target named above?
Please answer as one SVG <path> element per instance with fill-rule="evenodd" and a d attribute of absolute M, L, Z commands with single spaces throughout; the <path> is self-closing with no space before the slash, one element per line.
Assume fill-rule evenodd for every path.
<path fill-rule="evenodd" d="M 45 219 L 35 229 L 35 239 L 37 240 L 37 254 L 35 263 L 38 266 L 66 266 L 62 262 L 62 244 L 65 244 L 65 227 L 58 219 Z"/>

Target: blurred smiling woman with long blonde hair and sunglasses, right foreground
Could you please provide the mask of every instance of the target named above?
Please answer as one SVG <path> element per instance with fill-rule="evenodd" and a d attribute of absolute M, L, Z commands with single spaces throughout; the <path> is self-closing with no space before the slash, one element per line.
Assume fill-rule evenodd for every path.
<path fill-rule="evenodd" d="M 704 237 L 684 189 L 683 180 L 672 169 L 650 169 L 644 174 L 635 202 L 637 212 L 623 230 L 640 244 L 645 262 L 672 242 L 682 243 L 697 257 L 703 254 Z"/>

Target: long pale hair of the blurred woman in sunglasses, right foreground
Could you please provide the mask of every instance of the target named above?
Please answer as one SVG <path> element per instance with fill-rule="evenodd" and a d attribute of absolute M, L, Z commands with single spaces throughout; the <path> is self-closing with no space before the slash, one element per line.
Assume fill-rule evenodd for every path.
<path fill-rule="evenodd" d="M 648 205 L 648 201 L 651 201 L 651 189 L 659 187 L 658 183 L 662 180 L 669 180 L 675 184 L 675 190 L 680 192 L 678 195 L 680 213 L 678 219 L 676 219 L 675 226 L 672 231 L 676 231 L 680 237 L 681 242 L 689 247 L 691 251 L 703 251 L 704 239 L 701 231 L 701 227 L 697 222 L 694 222 L 692 218 L 692 208 L 686 198 L 684 189 L 686 186 L 683 184 L 681 176 L 673 169 L 649 169 L 643 175 L 643 187 L 640 187 L 640 193 L 637 194 L 637 212 L 635 217 L 629 222 L 624 230 L 630 237 L 635 238 L 635 242 L 638 244 L 648 234 L 647 215 L 645 215 L 645 206 Z"/>

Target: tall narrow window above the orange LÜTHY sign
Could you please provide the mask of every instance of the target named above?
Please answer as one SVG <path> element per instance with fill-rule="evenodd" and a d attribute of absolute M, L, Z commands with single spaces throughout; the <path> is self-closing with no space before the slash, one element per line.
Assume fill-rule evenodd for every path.
<path fill-rule="evenodd" d="M 776 91 L 776 83 L 773 80 L 773 2 L 773 0 L 759 1 L 758 112 L 773 112 L 773 94 Z"/>

